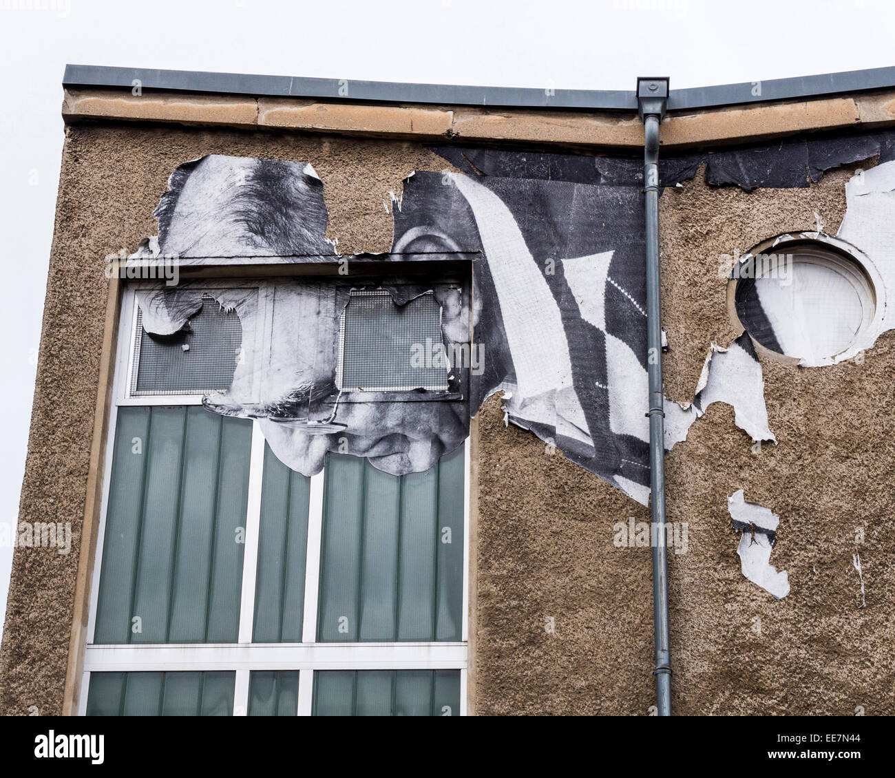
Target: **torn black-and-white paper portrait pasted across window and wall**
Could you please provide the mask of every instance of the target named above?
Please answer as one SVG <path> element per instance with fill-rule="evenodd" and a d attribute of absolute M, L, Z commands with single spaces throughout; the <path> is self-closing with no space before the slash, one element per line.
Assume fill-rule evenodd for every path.
<path fill-rule="evenodd" d="M 482 369 L 469 372 L 465 394 L 392 401 L 371 393 L 369 401 L 334 407 L 339 319 L 351 289 L 363 284 L 279 278 L 263 293 L 213 293 L 239 315 L 246 353 L 230 389 L 207 396 L 205 406 L 259 418 L 277 457 L 303 474 L 320 472 L 330 450 L 405 474 L 459 446 L 470 415 L 503 390 L 510 421 L 646 504 L 642 193 L 637 186 L 524 177 L 522 156 L 503 164 L 515 165 L 514 175 L 408 177 L 394 203 L 392 252 L 380 257 L 394 263 L 394 278 L 381 286 L 396 304 L 434 292 L 445 346 L 468 341 L 472 327 Z M 679 167 L 692 175 L 692 165 Z M 144 241 L 133 261 L 343 259 L 326 238 L 323 186 L 307 163 L 201 158 L 175 170 L 155 213 L 158 239 Z M 421 257 L 472 261 L 472 303 L 439 278 L 422 286 L 401 278 L 405 261 Z M 178 331 L 200 309 L 202 294 L 189 283 L 142 292 L 144 327 L 159 336 Z M 254 337 L 262 321 L 273 321 L 272 337 Z M 773 440 L 761 365 L 746 336 L 728 349 L 713 347 L 692 404 L 667 403 L 667 447 L 684 440 L 717 401 L 734 406 L 737 426 L 753 440 Z M 309 429 L 309 420 L 325 423 L 334 413 L 337 429 Z"/>

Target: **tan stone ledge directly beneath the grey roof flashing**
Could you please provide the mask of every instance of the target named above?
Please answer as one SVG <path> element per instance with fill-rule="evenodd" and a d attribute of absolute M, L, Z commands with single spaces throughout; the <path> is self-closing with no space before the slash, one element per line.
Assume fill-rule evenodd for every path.
<path fill-rule="evenodd" d="M 533 109 L 421 107 L 320 102 L 300 98 L 239 98 L 183 92 L 65 90 L 66 124 L 93 120 L 226 125 L 401 138 L 515 141 L 603 149 L 639 149 L 636 115 Z M 766 140 L 793 133 L 895 125 L 895 90 L 852 97 L 670 114 L 665 149 Z"/>

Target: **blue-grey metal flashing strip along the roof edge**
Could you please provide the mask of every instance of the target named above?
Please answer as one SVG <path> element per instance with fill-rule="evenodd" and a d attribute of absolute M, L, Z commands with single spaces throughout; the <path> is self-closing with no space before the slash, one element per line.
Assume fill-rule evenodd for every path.
<path fill-rule="evenodd" d="M 350 102 L 422 103 L 448 106 L 577 108 L 635 111 L 634 90 L 546 90 L 516 87 L 473 87 L 412 84 L 393 81 L 298 78 L 245 73 L 154 70 L 67 64 L 66 87 L 119 87 L 144 90 L 214 92 L 252 97 L 324 98 Z M 671 90 L 668 110 L 692 110 L 822 97 L 844 92 L 895 88 L 895 67 L 825 73 L 771 81 L 746 81 L 723 86 Z"/>

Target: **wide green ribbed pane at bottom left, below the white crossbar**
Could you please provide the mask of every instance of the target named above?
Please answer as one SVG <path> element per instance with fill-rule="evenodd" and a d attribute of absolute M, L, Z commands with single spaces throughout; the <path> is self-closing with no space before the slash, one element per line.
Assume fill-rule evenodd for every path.
<path fill-rule="evenodd" d="M 91 672 L 89 716 L 230 716 L 236 673 Z"/>

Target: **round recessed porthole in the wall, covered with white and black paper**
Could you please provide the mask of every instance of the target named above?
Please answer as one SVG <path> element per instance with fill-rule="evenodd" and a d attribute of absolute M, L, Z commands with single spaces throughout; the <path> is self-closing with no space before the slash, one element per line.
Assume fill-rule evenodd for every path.
<path fill-rule="evenodd" d="M 819 363 L 853 346 L 874 320 L 874 285 L 833 244 L 801 240 L 746 254 L 733 270 L 734 304 L 746 332 L 776 354 Z"/>

